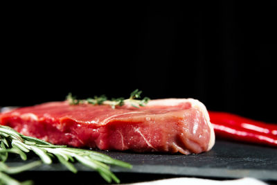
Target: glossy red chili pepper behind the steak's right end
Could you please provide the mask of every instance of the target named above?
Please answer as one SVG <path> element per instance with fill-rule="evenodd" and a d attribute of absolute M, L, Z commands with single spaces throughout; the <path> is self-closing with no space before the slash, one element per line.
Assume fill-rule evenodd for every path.
<path fill-rule="evenodd" d="M 215 135 L 225 139 L 277 146 L 277 125 L 226 112 L 209 112 Z"/>

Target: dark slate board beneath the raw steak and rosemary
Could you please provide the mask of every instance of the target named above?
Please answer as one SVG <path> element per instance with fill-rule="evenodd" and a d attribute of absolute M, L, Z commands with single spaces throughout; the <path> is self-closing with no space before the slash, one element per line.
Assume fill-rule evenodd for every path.
<path fill-rule="evenodd" d="M 101 151 L 102 152 L 102 151 Z M 157 153 L 138 154 L 132 152 L 103 152 L 115 159 L 127 161 L 132 169 L 111 167 L 114 173 L 178 175 L 184 177 L 240 178 L 255 177 L 262 180 L 277 180 L 277 148 L 255 146 L 231 141 L 216 141 L 209 152 L 199 155 L 166 155 Z M 33 157 L 29 161 L 37 160 Z M 8 161 L 8 165 L 22 164 L 19 158 Z M 91 169 L 76 164 L 79 173 Z M 61 164 L 39 166 L 33 171 L 64 172 Z M 99 177 L 100 178 L 100 177 Z"/>

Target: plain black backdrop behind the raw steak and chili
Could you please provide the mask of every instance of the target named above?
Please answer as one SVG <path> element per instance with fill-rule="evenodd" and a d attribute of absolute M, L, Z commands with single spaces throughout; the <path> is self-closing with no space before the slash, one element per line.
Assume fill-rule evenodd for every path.
<path fill-rule="evenodd" d="M 12 5 L 0 106 L 106 94 L 197 98 L 277 123 L 276 1 Z"/>

